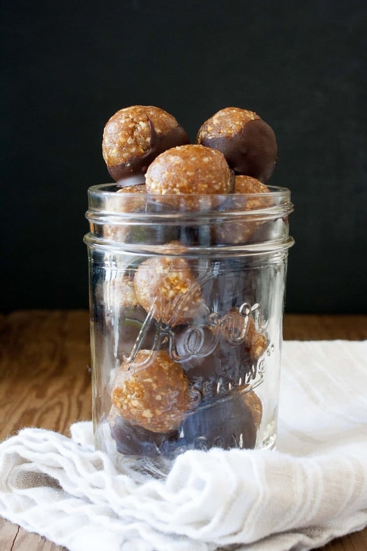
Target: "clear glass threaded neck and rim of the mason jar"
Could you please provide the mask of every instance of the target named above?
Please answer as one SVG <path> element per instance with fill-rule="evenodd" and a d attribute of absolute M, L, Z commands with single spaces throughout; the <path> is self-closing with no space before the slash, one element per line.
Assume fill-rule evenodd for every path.
<path fill-rule="evenodd" d="M 139 250 L 150 254 L 179 240 L 188 254 L 216 247 L 223 254 L 289 249 L 288 188 L 265 193 L 167 194 L 116 193 L 116 183 L 91 186 L 86 218 L 89 246 Z M 193 249 L 191 250 L 191 247 Z"/>

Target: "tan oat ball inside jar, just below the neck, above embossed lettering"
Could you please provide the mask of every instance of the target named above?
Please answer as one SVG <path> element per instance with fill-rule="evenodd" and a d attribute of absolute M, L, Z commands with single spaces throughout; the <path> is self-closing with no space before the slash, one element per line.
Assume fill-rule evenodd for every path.
<path fill-rule="evenodd" d="M 151 257 L 141 262 L 134 277 L 135 293 L 155 320 L 171 326 L 191 321 L 205 305 L 188 261 L 180 257 Z"/>

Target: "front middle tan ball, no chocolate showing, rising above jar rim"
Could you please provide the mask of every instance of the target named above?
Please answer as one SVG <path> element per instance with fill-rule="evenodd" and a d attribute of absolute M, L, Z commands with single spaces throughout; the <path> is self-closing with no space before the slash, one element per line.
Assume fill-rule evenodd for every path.
<path fill-rule="evenodd" d="M 212 194 L 233 190 L 234 175 L 216 149 L 182 145 L 161 153 L 145 175 L 150 193 Z"/>

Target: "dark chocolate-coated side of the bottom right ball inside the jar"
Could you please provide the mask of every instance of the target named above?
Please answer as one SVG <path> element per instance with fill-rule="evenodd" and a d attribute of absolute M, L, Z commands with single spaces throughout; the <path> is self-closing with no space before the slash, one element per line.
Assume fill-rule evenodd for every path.
<path fill-rule="evenodd" d="M 256 423 L 247 393 L 235 393 L 226 399 L 205 404 L 184 420 L 181 434 L 188 448 L 209 450 L 221 447 L 253 449 L 256 444 Z"/>

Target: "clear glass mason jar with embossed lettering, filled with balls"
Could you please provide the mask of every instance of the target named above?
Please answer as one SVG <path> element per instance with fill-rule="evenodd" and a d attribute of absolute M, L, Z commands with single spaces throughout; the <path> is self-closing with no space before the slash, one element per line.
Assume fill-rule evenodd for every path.
<path fill-rule="evenodd" d="M 191 449 L 272 449 L 288 249 L 286 188 L 89 189 L 95 445 L 167 473 Z"/>

